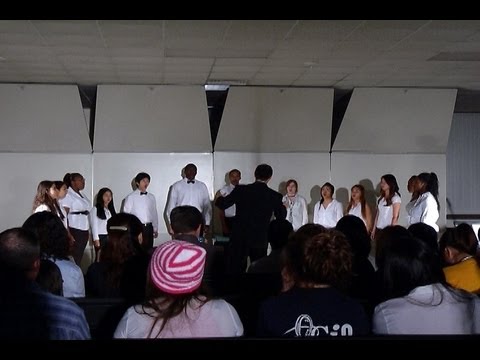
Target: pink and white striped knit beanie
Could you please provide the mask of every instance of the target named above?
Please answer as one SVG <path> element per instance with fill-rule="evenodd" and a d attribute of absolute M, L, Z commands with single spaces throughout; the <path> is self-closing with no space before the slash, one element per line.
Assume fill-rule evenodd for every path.
<path fill-rule="evenodd" d="M 187 294 L 202 283 L 207 252 L 186 241 L 170 240 L 159 245 L 150 260 L 150 278 L 169 294 Z"/>

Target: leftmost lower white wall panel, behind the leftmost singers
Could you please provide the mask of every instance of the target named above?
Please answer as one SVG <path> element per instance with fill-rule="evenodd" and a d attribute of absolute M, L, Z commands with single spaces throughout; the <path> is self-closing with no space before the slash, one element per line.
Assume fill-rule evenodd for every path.
<path fill-rule="evenodd" d="M 91 154 L 0 153 L 0 231 L 21 226 L 32 214 L 32 205 L 42 180 L 63 180 L 67 172 L 85 177 L 85 194 L 92 200 Z"/>

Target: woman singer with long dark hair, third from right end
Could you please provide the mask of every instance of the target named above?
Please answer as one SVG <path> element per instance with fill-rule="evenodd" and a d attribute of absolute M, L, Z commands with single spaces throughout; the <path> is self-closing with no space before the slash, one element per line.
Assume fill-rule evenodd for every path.
<path fill-rule="evenodd" d="M 378 199 L 372 239 L 375 238 L 378 229 L 398 224 L 401 203 L 397 179 L 392 174 L 383 175 L 380 180 L 380 199 Z"/>

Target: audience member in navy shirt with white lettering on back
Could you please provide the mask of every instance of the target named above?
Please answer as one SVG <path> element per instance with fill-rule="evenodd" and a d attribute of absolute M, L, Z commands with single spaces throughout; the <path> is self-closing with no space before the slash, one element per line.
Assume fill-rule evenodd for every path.
<path fill-rule="evenodd" d="M 341 232 L 327 230 L 311 237 L 294 236 L 285 247 L 285 261 L 285 287 L 290 288 L 262 304 L 258 336 L 326 337 L 369 333 L 369 321 L 362 305 L 343 293 L 352 273 L 352 252 Z"/>

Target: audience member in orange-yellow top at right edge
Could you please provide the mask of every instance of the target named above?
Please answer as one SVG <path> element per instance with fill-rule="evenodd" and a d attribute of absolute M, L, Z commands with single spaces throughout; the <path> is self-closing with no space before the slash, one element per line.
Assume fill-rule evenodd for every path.
<path fill-rule="evenodd" d="M 447 229 L 440 238 L 440 254 L 447 283 L 476 294 L 480 293 L 480 267 L 477 237 L 472 227 L 462 223 Z"/>

